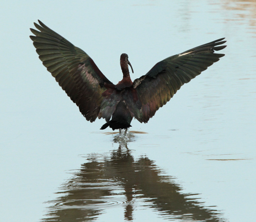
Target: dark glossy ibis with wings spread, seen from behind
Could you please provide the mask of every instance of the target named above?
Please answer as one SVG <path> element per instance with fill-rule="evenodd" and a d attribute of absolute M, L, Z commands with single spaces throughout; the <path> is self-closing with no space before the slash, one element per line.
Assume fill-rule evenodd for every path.
<path fill-rule="evenodd" d="M 80 48 L 38 20 L 31 40 L 43 65 L 60 87 L 76 103 L 86 120 L 103 118 L 107 127 L 131 127 L 133 118 L 147 123 L 180 89 L 225 54 L 215 53 L 226 47 L 225 38 L 197 46 L 156 63 L 145 75 L 131 80 L 126 53 L 121 54 L 123 79 L 113 84 L 100 71 L 92 58 Z M 128 66 L 129 65 L 129 66 Z"/>

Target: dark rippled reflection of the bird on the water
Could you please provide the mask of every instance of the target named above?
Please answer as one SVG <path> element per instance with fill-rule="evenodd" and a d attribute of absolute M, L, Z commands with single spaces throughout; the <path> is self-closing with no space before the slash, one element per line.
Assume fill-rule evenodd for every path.
<path fill-rule="evenodd" d="M 127 148 L 127 144 L 124 145 Z M 166 219 L 221 221 L 220 212 L 204 207 L 197 194 L 185 194 L 171 176 L 145 156 L 135 159 L 122 148 L 91 154 L 61 187 L 43 221 L 93 221 L 111 207 L 133 220 L 137 207 L 154 208 Z"/>

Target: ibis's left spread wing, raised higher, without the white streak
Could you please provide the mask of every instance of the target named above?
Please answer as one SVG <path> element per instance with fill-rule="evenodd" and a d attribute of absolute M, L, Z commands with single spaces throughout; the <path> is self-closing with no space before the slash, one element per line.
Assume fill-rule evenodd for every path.
<path fill-rule="evenodd" d="M 93 122 L 99 114 L 103 100 L 104 83 L 112 84 L 95 65 L 91 57 L 65 38 L 45 26 L 41 21 L 30 29 L 36 52 L 47 70 L 61 88 L 76 103 L 80 112 Z"/>

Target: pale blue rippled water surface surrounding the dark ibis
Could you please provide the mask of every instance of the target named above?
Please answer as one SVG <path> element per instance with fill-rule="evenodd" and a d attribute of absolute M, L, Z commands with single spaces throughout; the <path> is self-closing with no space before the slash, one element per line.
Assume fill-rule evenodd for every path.
<path fill-rule="evenodd" d="M 255 1 L 1 3 L 1 221 L 253 222 Z M 226 37 L 221 58 L 182 86 L 126 146 L 87 122 L 38 59 L 42 20 L 109 80 Z M 120 146 L 121 149 L 118 149 Z"/>

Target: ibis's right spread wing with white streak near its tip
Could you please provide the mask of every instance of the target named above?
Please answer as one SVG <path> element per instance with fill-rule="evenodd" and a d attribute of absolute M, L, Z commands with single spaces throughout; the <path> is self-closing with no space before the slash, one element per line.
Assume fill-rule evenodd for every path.
<path fill-rule="evenodd" d="M 188 83 L 224 54 L 214 53 L 226 45 L 224 38 L 206 43 L 158 62 L 146 75 L 134 80 L 141 102 L 141 112 L 135 118 L 147 123 L 156 111 L 166 104 L 184 83 Z M 221 46 L 220 46 L 221 45 Z"/>

